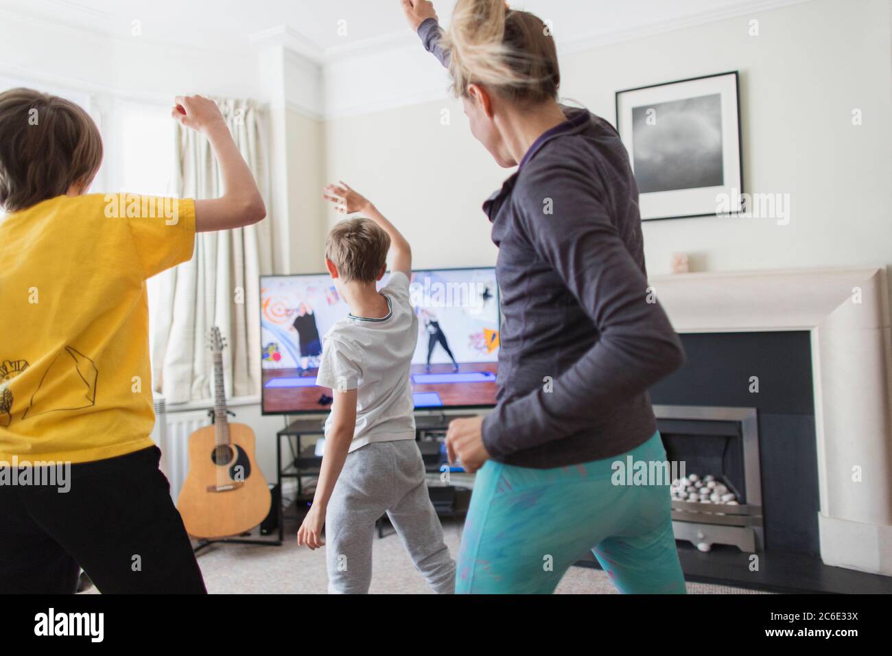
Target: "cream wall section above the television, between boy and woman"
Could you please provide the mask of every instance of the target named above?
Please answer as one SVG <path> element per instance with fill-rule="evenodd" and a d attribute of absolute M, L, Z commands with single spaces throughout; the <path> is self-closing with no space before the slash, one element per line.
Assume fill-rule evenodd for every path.
<path fill-rule="evenodd" d="M 409 239 L 417 267 L 495 262 L 481 205 L 511 171 L 471 136 L 458 101 L 329 120 L 326 152 L 328 178 L 376 203 Z"/>

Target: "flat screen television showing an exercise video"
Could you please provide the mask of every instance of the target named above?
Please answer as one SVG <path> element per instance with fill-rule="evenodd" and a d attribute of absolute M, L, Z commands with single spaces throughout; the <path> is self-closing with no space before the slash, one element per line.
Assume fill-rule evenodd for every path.
<path fill-rule="evenodd" d="M 500 328 L 495 270 L 413 271 L 409 295 L 418 317 L 409 373 L 416 410 L 495 405 Z M 332 390 L 316 385 L 322 339 L 349 313 L 328 274 L 260 278 L 263 414 L 331 408 Z"/>

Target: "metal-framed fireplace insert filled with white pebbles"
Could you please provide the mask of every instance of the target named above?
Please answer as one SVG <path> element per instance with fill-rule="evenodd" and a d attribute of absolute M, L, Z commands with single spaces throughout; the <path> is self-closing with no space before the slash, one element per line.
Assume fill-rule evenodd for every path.
<path fill-rule="evenodd" d="M 656 405 L 673 481 L 673 531 L 700 551 L 732 544 L 764 548 L 762 480 L 755 408 Z M 682 491 L 686 488 L 686 491 Z"/>

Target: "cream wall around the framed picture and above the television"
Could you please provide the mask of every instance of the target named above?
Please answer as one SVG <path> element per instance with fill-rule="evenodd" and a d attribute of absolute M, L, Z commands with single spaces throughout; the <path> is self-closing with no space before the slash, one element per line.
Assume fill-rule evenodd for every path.
<path fill-rule="evenodd" d="M 855 6 L 857 8 L 855 9 Z M 748 36 L 748 21 L 760 36 Z M 673 252 L 703 270 L 892 264 L 887 0 L 814 0 L 563 54 L 563 95 L 614 120 L 614 92 L 739 70 L 747 191 L 790 195 L 790 222 L 645 223 L 652 274 Z M 398 84 L 387 80 L 382 84 Z M 863 125 L 851 112 L 863 111 Z M 449 109 L 451 124 L 441 125 Z M 480 205 L 500 170 L 460 104 L 417 104 L 326 123 L 329 178 L 343 177 L 406 234 L 420 266 L 491 264 Z M 331 218 L 332 215 L 329 215 Z"/>

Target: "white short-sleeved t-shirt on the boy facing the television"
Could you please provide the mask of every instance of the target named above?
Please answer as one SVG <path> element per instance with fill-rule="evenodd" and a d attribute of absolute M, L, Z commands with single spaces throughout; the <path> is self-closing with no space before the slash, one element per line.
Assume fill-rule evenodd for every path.
<path fill-rule="evenodd" d="M 409 366 L 418 339 L 418 319 L 409 303 L 409 278 L 393 272 L 381 294 L 390 305 L 386 317 L 365 319 L 351 314 L 323 337 L 317 384 L 339 391 L 357 390 L 351 452 L 371 442 L 415 439 Z M 326 420 L 326 435 L 334 406 L 332 410 Z"/>

